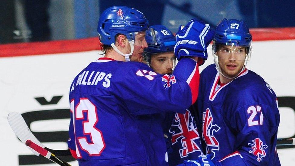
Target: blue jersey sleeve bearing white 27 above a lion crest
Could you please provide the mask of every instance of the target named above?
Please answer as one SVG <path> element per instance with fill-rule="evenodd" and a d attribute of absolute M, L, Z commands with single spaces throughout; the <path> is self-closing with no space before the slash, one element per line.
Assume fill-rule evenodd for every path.
<path fill-rule="evenodd" d="M 275 101 L 274 101 L 275 102 Z M 228 114 L 228 126 L 236 134 L 236 151 L 217 165 L 275 165 L 279 162 L 276 142 L 280 115 L 277 106 L 252 102 Z"/>

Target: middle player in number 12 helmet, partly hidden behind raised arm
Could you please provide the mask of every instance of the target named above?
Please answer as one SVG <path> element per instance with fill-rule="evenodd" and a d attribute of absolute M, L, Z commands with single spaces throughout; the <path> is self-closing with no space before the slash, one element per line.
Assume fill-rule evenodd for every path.
<path fill-rule="evenodd" d="M 187 38 L 181 39 L 187 40 Z M 148 48 L 144 49 L 144 60 L 157 73 L 172 73 L 173 47 L 176 43 L 172 32 L 163 25 L 154 25 L 147 31 L 146 40 Z M 177 40 L 180 41 L 179 37 Z M 157 116 L 165 116 L 163 127 L 169 165 L 177 165 L 184 160 L 202 155 L 199 133 L 190 110 L 187 109 L 184 114 L 166 112 Z"/>

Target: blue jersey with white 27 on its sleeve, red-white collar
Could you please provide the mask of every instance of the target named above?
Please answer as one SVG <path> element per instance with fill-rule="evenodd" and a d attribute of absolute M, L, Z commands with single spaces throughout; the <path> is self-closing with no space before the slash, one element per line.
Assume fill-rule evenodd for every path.
<path fill-rule="evenodd" d="M 245 69 L 219 85 L 219 73 L 209 65 L 201 73 L 195 108 L 206 153 L 216 165 L 280 165 L 277 97 L 259 75 Z"/>

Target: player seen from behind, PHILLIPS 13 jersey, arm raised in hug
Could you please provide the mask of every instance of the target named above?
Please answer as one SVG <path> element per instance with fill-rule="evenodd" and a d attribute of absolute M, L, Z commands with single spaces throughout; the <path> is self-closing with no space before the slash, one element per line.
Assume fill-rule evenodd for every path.
<path fill-rule="evenodd" d="M 193 42 L 195 50 L 191 54 L 181 50 L 185 42 L 176 46 L 179 63 L 174 75 L 163 76 L 143 63 L 128 62 L 141 57 L 147 47 L 147 26 L 140 11 L 125 6 L 108 8 L 100 16 L 98 32 L 105 57 L 90 63 L 70 87 L 68 146 L 79 165 L 164 164 L 165 154 L 151 154 L 140 134 L 138 125 L 148 125 L 151 120 L 145 122 L 137 116 L 184 112 L 196 100 L 196 61 L 200 54 L 207 53 L 212 31 L 205 30 L 206 25 L 198 21 L 180 31 L 180 35 L 207 33 L 203 40 Z M 146 137 L 153 138 L 151 134 Z M 161 140 L 158 146 L 166 148 Z"/>

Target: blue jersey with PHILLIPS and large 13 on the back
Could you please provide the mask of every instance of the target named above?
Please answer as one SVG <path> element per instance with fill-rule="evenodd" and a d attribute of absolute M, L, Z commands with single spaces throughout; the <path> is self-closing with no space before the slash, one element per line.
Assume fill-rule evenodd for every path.
<path fill-rule="evenodd" d="M 183 113 L 196 99 L 196 67 L 196 61 L 183 58 L 174 75 L 163 76 L 138 62 L 100 58 L 90 63 L 73 80 L 69 95 L 68 146 L 79 165 L 165 164 L 160 121 L 140 116 Z M 145 131 L 151 125 L 160 133 Z M 154 150 L 156 145 L 164 150 Z"/>

